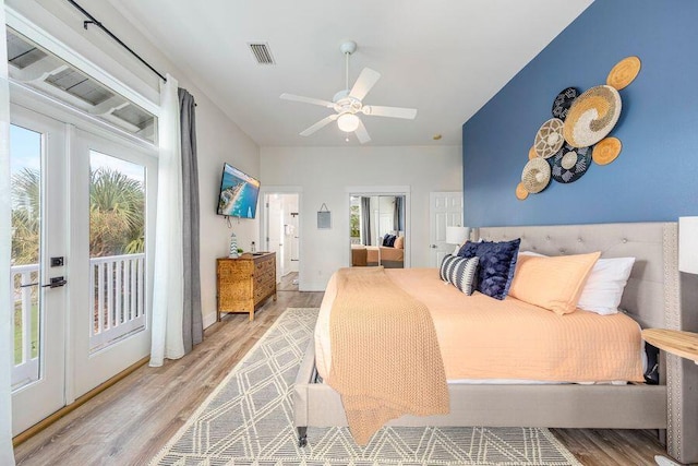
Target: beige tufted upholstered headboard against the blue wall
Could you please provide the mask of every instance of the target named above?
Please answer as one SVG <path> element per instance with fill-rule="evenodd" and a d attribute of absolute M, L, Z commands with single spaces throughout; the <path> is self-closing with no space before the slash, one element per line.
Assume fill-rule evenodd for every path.
<path fill-rule="evenodd" d="M 521 238 L 520 251 L 546 255 L 601 251 L 602 258 L 636 258 L 621 307 L 642 327 L 679 328 L 675 223 L 483 227 L 478 236 Z"/>

